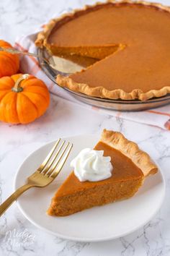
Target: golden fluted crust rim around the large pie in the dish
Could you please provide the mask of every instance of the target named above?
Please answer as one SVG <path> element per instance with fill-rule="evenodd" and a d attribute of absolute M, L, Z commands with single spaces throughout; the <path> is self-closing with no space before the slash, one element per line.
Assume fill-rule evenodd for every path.
<path fill-rule="evenodd" d="M 152 7 L 157 7 L 160 9 L 164 9 L 167 12 L 170 12 L 170 7 L 165 7 L 162 4 L 157 4 L 157 3 L 150 3 L 146 1 L 131 1 L 131 0 L 120 0 L 120 1 L 115 1 L 115 0 L 109 0 L 105 3 L 100 3 L 98 2 L 97 4 L 91 5 L 91 6 L 85 6 L 84 9 L 76 9 L 72 13 L 68 14 L 63 14 L 61 17 L 57 19 L 50 20 L 50 22 L 45 25 L 44 30 L 40 32 L 37 35 L 37 40 L 35 40 L 35 45 L 42 48 L 45 46 L 50 50 L 50 44 L 48 43 L 48 36 L 50 35 L 51 31 L 53 30 L 53 27 L 55 25 L 62 25 L 64 22 L 68 22 L 71 20 L 75 14 L 78 14 L 79 12 L 82 13 L 86 10 L 93 9 L 94 7 L 97 7 L 99 5 L 104 5 L 104 4 L 143 4 L 146 6 L 152 6 Z M 107 90 L 104 87 L 95 87 L 91 88 L 88 84 L 83 84 L 79 82 L 73 81 L 70 77 L 64 77 L 60 74 L 58 74 L 58 77 L 56 78 L 56 82 L 58 85 L 62 87 L 66 87 L 70 90 L 79 92 L 79 93 L 84 93 L 86 95 L 94 96 L 94 97 L 99 97 L 99 98 L 109 98 L 109 99 L 122 99 L 122 100 L 134 100 L 134 99 L 139 99 L 140 101 L 146 101 L 150 98 L 156 97 L 162 97 L 168 93 L 170 93 L 170 86 L 166 86 L 164 88 L 161 88 L 160 90 L 150 90 L 146 93 L 144 93 L 140 89 L 134 89 L 130 93 L 125 92 L 122 89 L 117 89 L 117 90 Z"/>

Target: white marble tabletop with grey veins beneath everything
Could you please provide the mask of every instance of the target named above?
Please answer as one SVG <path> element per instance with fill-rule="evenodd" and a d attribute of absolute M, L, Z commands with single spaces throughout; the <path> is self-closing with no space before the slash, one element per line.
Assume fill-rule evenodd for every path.
<path fill-rule="evenodd" d="M 1 0 L 0 38 L 14 43 L 17 35 L 32 33 L 37 25 L 50 19 L 54 13 L 92 2 Z M 162 2 L 170 4 L 169 0 Z M 77 108 L 73 103 L 51 96 L 50 108 L 34 123 L 25 126 L 0 124 L 0 202 L 12 193 L 17 168 L 32 150 L 59 136 L 99 133 L 103 128 L 123 132 L 160 164 L 166 179 L 166 198 L 158 214 L 142 229 L 128 236 L 109 242 L 82 243 L 58 239 L 35 228 L 14 203 L 0 218 L 0 255 L 170 255 L 170 134 L 156 127 Z M 14 229 L 18 234 L 22 231 L 32 234 L 32 243 L 26 244 L 22 238 L 14 237 L 11 243 L 6 242 L 6 232 Z"/>

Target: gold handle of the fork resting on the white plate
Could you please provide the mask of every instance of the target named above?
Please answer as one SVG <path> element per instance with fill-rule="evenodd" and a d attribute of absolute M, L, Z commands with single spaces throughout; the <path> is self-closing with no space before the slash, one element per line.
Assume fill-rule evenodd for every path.
<path fill-rule="evenodd" d="M 1 205 L 0 205 L 0 216 L 6 211 L 7 208 L 9 208 L 10 205 L 12 205 L 12 202 L 17 200 L 17 198 L 22 195 L 27 189 L 30 189 L 30 187 L 35 187 L 33 184 L 25 184 L 22 187 L 19 187 L 10 197 L 8 197 Z"/>

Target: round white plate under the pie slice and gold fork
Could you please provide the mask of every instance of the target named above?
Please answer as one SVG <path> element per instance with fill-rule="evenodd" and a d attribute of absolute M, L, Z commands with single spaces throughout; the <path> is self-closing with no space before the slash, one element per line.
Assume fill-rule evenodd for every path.
<path fill-rule="evenodd" d="M 71 159 L 81 149 L 93 148 L 98 139 L 99 137 L 94 135 L 67 137 L 66 140 L 73 143 L 73 150 L 61 174 L 48 187 L 32 188 L 19 197 L 19 209 L 35 226 L 64 239 L 99 242 L 125 236 L 139 229 L 151 220 L 161 207 L 165 182 L 159 169 L 158 174 L 148 177 L 138 193 L 128 200 L 91 208 L 66 217 L 51 217 L 45 213 L 55 191 L 71 171 Z M 14 182 L 15 189 L 26 182 L 27 176 L 42 163 L 53 144 L 54 142 L 50 142 L 39 148 L 22 163 Z"/>

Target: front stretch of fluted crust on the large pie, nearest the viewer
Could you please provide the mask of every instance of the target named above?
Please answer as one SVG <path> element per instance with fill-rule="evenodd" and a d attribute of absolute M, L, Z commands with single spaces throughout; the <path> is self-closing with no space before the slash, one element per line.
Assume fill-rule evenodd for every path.
<path fill-rule="evenodd" d="M 125 90 L 122 89 L 107 90 L 102 86 L 92 88 L 89 85 L 75 82 L 71 77 L 64 77 L 61 74 L 58 74 L 56 77 L 56 82 L 58 85 L 61 85 L 61 87 L 66 87 L 70 90 L 99 98 L 121 98 L 122 100 L 134 100 L 138 98 L 140 101 L 146 101 L 149 98 L 161 97 L 170 93 L 170 86 L 166 86 L 160 90 L 150 90 L 146 93 L 143 93 L 140 89 L 134 89 L 132 92 L 126 93 Z"/>

